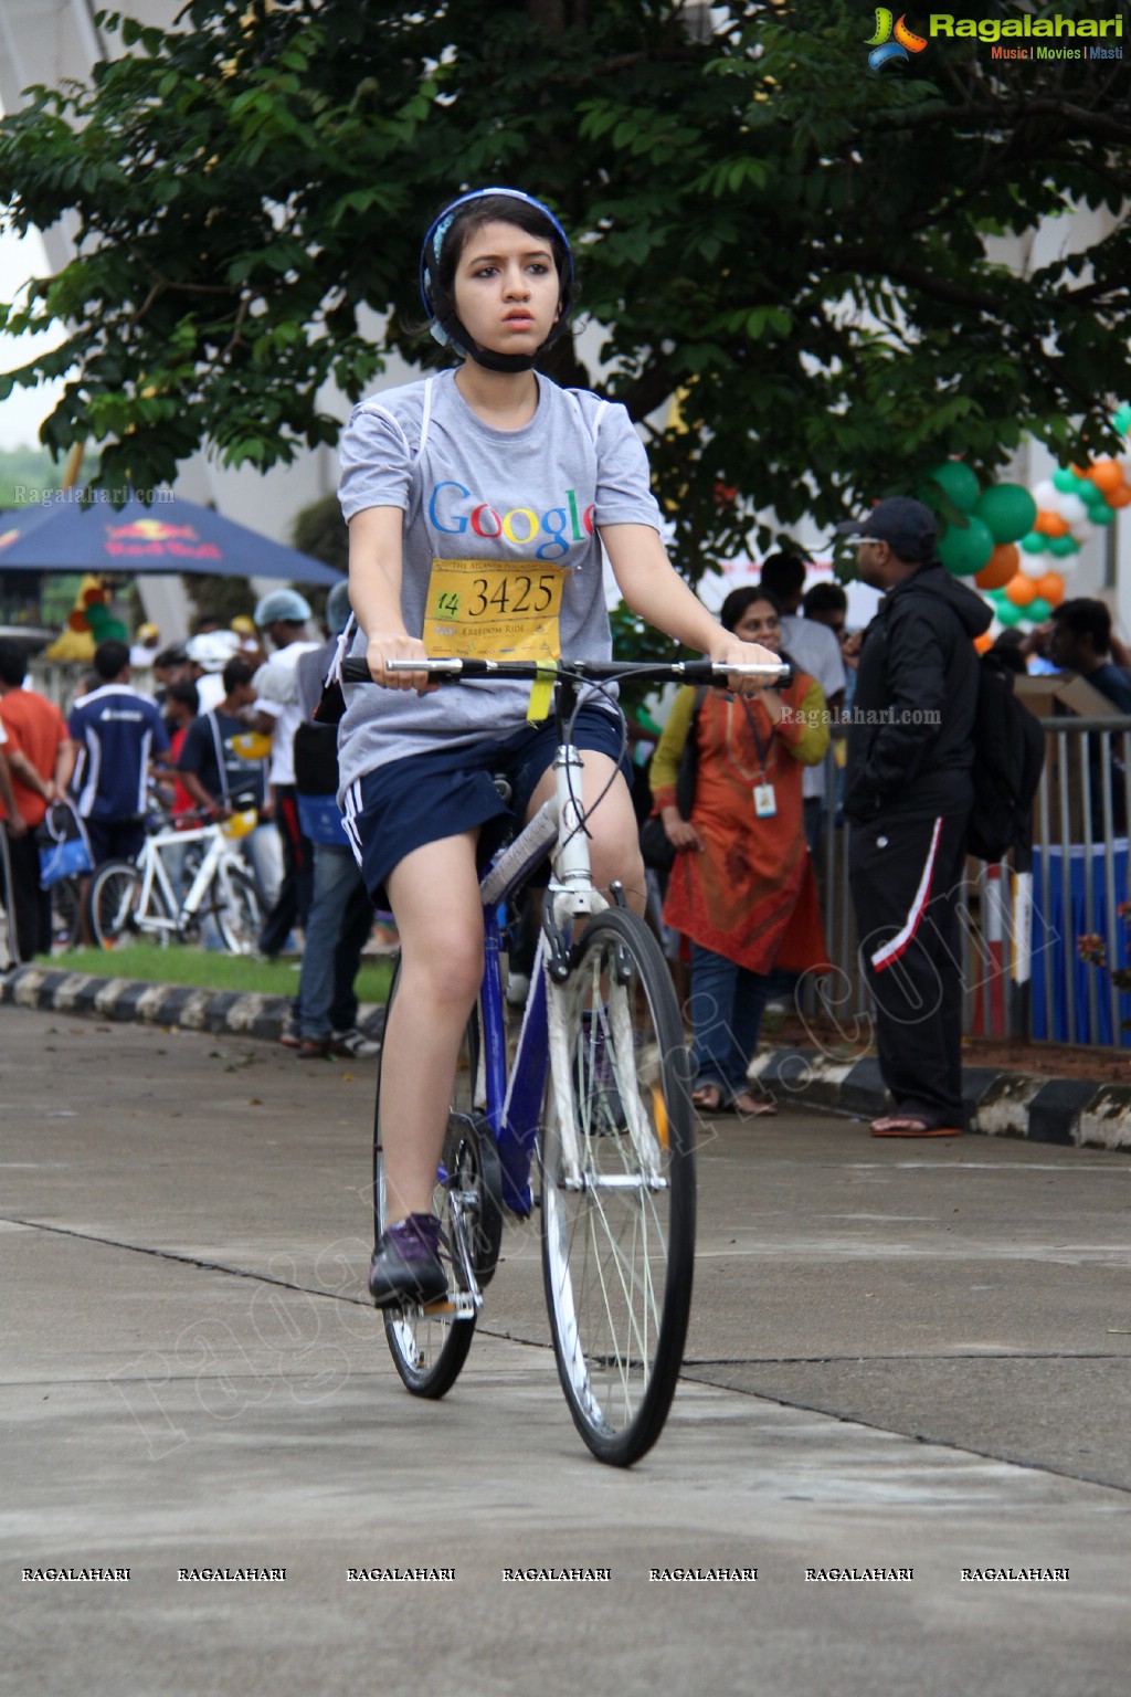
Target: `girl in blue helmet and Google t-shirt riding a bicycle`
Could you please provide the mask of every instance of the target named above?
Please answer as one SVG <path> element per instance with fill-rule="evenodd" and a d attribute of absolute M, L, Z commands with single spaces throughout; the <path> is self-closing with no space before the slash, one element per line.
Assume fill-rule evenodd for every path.
<path fill-rule="evenodd" d="M 382 691 L 346 689 L 346 830 L 370 894 L 400 932 L 382 1073 L 387 1218 L 370 1268 L 378 1307 L 448 1290 L 432 1213 L 460 1044 L 483 966 L 476 860 L 514 811 L 553 794 L 553 726 L 529 686 L 437 691 L 390 660 L 609 658 L 602 545 L 626 602 L 712 660 L 773 664 L 722 630 L 660 541 L 648 460 L 624 407 L 534 370 L 565 333 L 573 258 L 553 212 L 515 188 L 461 195 L 431 226 L 421 292 L 461 360 L 354 407 L 343 436 L 356 657 Z M 739 687 L 756 689 L 749 680 Z M 538 686 L 536 686 L 538 691 Z M 644 872 L 600 697 L 577 718 L 593 877 L 643 910 Z M 512 786 L 507 804 L 493 774 Z"/>

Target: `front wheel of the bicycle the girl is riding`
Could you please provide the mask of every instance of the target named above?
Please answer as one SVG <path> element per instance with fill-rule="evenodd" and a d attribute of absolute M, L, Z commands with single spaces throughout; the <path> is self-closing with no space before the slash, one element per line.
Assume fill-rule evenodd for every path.
<path fill-rule="evenodd" d="M 668 966 L 634 913 L 612 908 L 590 920 L 554 994 L 580 1171 L 570 1188 L 551 1076 L 541 1135 L 546 1307 L 577 1429 L 599 1461 L 631 1466 L 663 1431 L 687 1342 L 690 1062 Z"/>

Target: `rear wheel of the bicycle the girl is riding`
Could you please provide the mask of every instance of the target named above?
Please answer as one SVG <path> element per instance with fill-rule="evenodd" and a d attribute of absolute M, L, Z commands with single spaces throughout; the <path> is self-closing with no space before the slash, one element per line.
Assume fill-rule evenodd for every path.
<path fill-rule="evenodd" d="M 388 989 L 388 1010 L 392 1011 L 393 998 L 397 994 L 397 984 L 400 981 L 400 962 L 393 971 L 393 981 Z M 475 1020 L 471 1020 L 475 1025 Z M 471 1186 L 473 1183 L 488 1185 L 490 1173 L 485 1174 L 485 1164 L 495 1159 L 495 1178 L 493 1191 L 495 1196 L 500 1191 L 500 1179 L 497 1173 L 499 1156 L 495 1152 L 495 1144 L 490 1135 L 485 1139 L 478 1135 L 476 1118 L 470 1112 L 471 1091 L 475 1084 L 475 1054 L 476 1040 L 471 1039 L 471 1057 L 470 1057 L 470 1081 L 466 1074 L 456 1074 L 456 1101 L 453 1103 L 453 1113 L 448 1120 L 448 1132 L 444 1135 L 444 1174 L 437 1174 L 436 1190 L 432 1193 L 432 1207 L 439 1217 L 448 1242 L 453 1244 L 453 1225 L 451 1213 L 451 1178 L 458 1176 L 461 1186 Z M 373 1224 L 375 1239 L 380 1242 L 382 1232 L 385 1230 L 385 1174 L 383 1174 L 383 1149 L 382 1149 L 382 1074 L 385 1069 L 385 1050 L 376 1067 L 376 1105 L 373 1110 Z M 490 1144 L 490 1151 L 487 1145 Z M 471 1154 L 475 1149 L 475 1154 Z M 471 1171 L 471 1162 L 478 1168 L 478 1174 Z M 502 1230 L 502 1218 L 500 1218 Z M 495 1246 L 495 1257 L 497 1257 Z M 487 1259 L 488 1251 L 476 1249 L 471 1246 L 471 1254 L 478 1264 Z M 482 1283 L 482 1280 L 480 1280 Z M 460 1256 L 451 1257 L 451 1285 L 454 1290 L 466 1290 L 466 1280 L 463 1278 L 460 1268 Z M 388 1344 L 388 1353 L 393 1358 L 393 1366 L 400 1375 L 402 1383 L 414 1397 L 427 1397 L 437 1400 L 444 1397 L 451 1386 L 456 1383 L 463 1363 L 468 1359 L 471 1349 L 471 1341 L 475 1336 L 475 1319 L 456 1319 L 451 1310 L 443 1305 L 432 1305 L 431 1308 L 387 1308 L 383 1312 L 385 1320 L 385 1342 Z"/>

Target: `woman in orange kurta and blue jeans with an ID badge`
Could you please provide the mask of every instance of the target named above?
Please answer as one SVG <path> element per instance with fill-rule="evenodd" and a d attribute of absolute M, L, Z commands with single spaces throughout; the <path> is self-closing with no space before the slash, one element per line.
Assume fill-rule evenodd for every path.
<path fill-rule="evenodd" d="M 780 652 L 780 609 L 768 591 L 733 591 L 719 621 Z M 683 820 L 675 782 L 692 728 L 695 804 Z M 746 1084 L 770 972 L 827 964 L 802 813 L 802 769 L 827 747 L 821 686 L 795 672 L 787 689 L 753 701 L 709 689 L 699 713 L 695 691 L 680 691 L 653 757 L 656 811 L 677 850 L 663 918 L 692 938 L 694 1100 L 709 1113 L 775 1112 Z"/>

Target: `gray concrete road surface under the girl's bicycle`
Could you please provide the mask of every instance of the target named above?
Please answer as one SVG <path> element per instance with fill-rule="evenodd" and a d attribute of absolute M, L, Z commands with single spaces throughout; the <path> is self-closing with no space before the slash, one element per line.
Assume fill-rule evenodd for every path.
<path fill-rule="evenodd" d="M 687 1380 L 622 1475 L 521 1230 L 453 1395 L 400 1390 L 359 1300 L 373 1073 L 0 1011 L 0 1690 L 1126 1690 L 1126 1156 L 712 1122 Z M 92 1566 L 131 1578 L 22 1578 Z"/>

